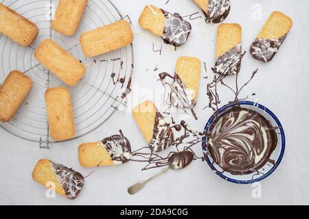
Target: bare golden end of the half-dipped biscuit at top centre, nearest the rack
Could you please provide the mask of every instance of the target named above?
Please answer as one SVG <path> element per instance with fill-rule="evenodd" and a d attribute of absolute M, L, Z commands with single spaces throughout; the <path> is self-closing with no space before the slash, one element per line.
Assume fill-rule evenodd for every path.
<path fill-rule="evenodd" d="M 162 36 L 165 21 L 166 18 L 162 10 L 154 5 L 146 5 L 139 16 L 139 25 L 157 36 Z"/>

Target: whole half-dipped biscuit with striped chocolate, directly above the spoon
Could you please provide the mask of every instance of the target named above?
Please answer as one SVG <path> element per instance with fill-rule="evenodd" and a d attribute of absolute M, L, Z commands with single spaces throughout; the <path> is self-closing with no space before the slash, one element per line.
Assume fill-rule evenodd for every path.
<path fill-rule="evenodd" d="M 152 101 L 144 101 L 137 105 L 133 109 L 133 117 L 152 150 L 163 151 L 174 144 L 170 121 L 158 112 Z"/>

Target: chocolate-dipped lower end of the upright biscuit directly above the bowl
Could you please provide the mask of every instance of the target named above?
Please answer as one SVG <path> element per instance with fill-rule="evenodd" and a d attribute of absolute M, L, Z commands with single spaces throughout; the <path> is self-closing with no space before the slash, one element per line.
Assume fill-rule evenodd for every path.
<path fill-rule="evenodd" d="M 242 44 L 237 44 L 235 47 L 220 55 L 216 59 L 214 71 L 220 75 L 235 75 L 240 71 L 242 59 Z"/>

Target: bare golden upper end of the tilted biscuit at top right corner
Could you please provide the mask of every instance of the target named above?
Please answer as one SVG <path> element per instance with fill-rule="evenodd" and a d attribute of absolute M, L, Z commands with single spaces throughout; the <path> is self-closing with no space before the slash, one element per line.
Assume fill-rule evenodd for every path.
<path fill-rule="evenodd" d="M 286 14 L 282 12 L 273 12 L 268 17 L 257 38 L 279 39 L 285 34 L 288 34 L 292 25 L 292 19 L 286 16 Z"/>

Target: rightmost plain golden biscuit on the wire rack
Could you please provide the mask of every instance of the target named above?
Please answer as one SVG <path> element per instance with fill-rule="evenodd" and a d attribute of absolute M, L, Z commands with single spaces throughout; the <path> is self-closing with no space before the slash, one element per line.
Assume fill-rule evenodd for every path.
<path fill-rule="evenodd" d="M 125 47 L 133 38 L 130 24 L 121 20 L 82 34 L 80 44 L 84 55 L 94 57 Z"/>

